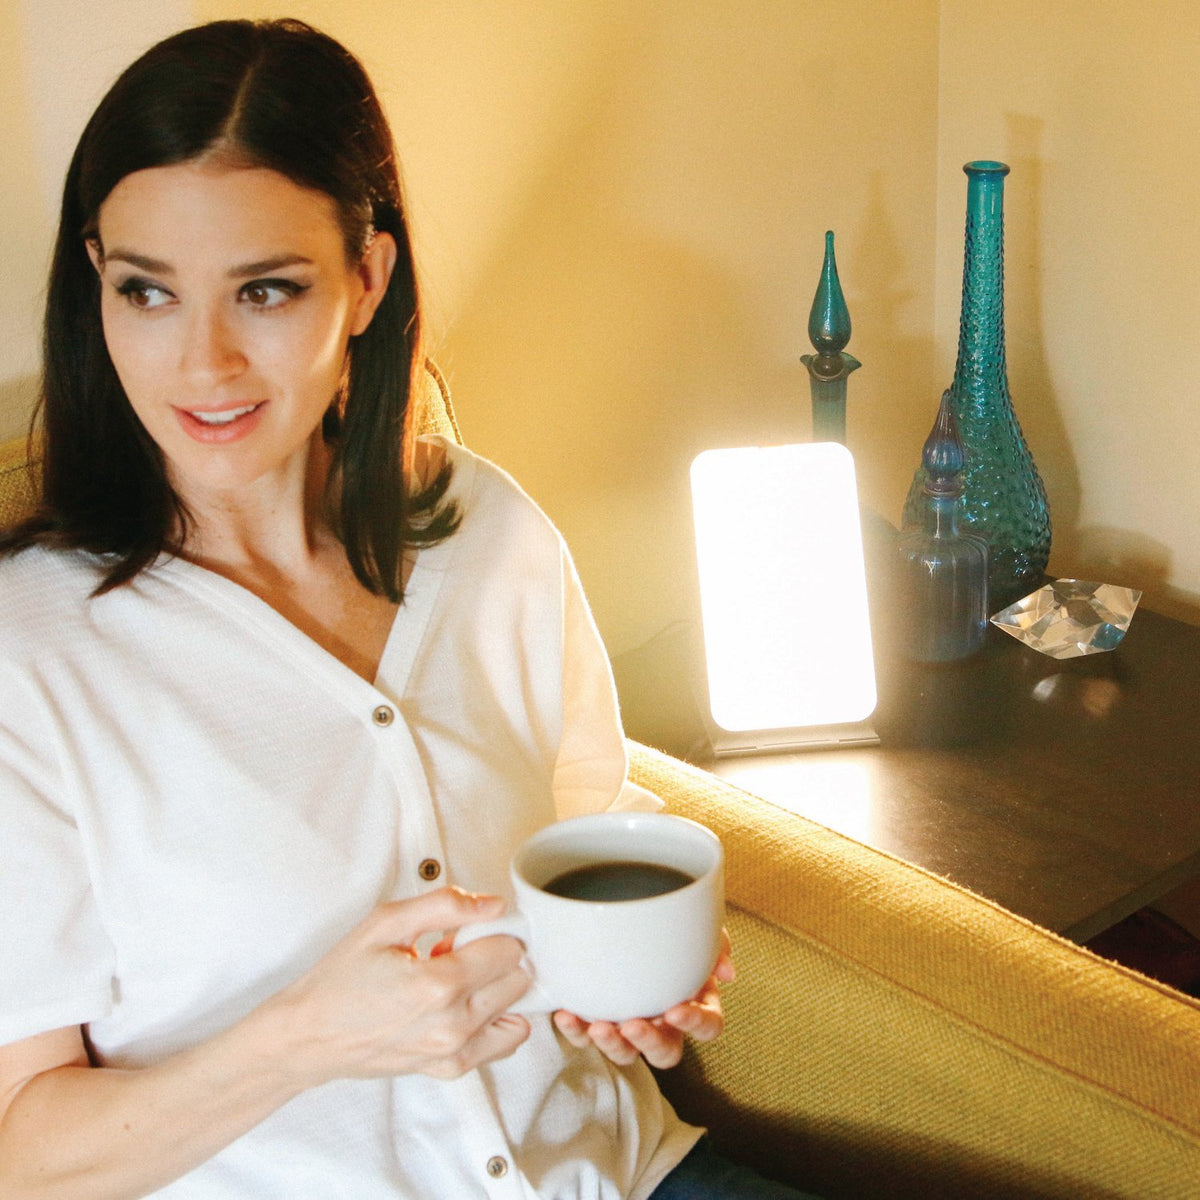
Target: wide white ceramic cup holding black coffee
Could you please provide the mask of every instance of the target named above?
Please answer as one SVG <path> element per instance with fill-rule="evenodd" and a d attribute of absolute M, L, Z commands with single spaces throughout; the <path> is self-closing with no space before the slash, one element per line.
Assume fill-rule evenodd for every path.
<path fill-rule="evenodd" d="M 544 890 L 595 863 L 655 863 L 691 876 L 661 895 L 576 900 Z M 565 1008 L 587 1021 L 658 1016 L 690 1000 L 712 974 L 724 919 L 724 853 L 716 835 L 664 812 L 598 812 L 539 830 L 511 865 L 514 912 L 464 925 L 455 946 L 508 934 L 533 973 L 515 1013 Z"/>

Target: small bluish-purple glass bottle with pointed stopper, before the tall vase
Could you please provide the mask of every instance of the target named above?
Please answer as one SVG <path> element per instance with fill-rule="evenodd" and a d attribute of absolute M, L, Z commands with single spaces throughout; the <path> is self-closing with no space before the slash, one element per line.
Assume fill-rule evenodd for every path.
<path fill-rule="evenodd" d="M 965 455 L 950 400 L 922 454 L 920 522 L 896 542 L 899 648 L 922 662 L 974 654 L 988 631 L 988 544 L 959 529 Z"/>

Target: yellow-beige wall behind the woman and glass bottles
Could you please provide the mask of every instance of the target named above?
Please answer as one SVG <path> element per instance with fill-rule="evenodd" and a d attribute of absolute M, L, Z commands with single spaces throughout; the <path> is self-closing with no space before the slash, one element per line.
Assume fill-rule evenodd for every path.
<path fill-rule="evenodd" d="M 10 428 L 36 362 L 44 179 L 101 68 L 164 28 L 281 11 L 74 6 L 96 28 L 60 54 L 71 70 L 54 72 L 48 125 L 37 67 L 66 7 L 23 0 L 0 16 Z M 1013 166 L 1009 365 L 1050 488 L 1052 565 L 1196 614 L 1200 238 L 1184 205 L 1200 170 L 1200 10 L 1187 0 L 1139 6 L 1135 20 L 1097 0 L 287 11 L 347 41 L 376 78 L 467 439 L 564 529 L 613 653 L 694 616 L 692 455 L 808 436 L 798 356 L 827 228 L 865 364 L 848 440 L 864 502 L 898 516 L 953 366 L 959 168 L 989 156 Z"/>

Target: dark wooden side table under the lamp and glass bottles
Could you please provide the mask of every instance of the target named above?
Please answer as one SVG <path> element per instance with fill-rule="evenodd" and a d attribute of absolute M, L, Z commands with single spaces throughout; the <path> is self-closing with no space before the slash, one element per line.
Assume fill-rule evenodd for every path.
<path fill-rule="evenodd" d="M 880 745 L 703 766 L 1079 942 L 1200 874 L 1200 628 L 1066 661 L 991 629 L 880 690 Z"/>

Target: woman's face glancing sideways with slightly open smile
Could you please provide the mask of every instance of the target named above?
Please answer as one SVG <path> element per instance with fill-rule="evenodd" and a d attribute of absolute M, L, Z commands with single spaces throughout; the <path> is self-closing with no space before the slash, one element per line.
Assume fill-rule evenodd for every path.
<path fill-rule="evenodd" d="M 347 263 L 324 193 L 188 162 L 126 175 L 89 252 L 109 355 L 181 498 L 302 481 L 391 238 Z"/>

